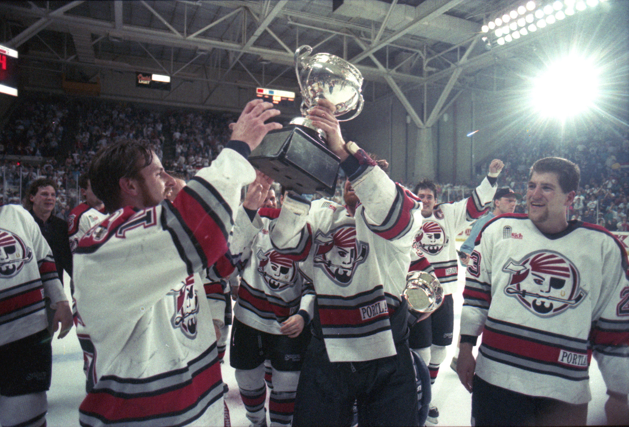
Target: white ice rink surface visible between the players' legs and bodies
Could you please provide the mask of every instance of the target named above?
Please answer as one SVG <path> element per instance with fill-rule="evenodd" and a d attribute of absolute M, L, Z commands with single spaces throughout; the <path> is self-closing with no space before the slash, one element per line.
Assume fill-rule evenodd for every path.
<path fill-rule="evenodd" d="M 460 247 L 460 242 L 457 242 Z M 459 336 L 459 323 L 463 299 L 461 293 L 464 287 L 465 271 L 459 269 L 458 291 L 454 294 L 454 336 Z M 65 275 L 65 291 L 70 297 L 70 280 Z M 469 426 L 470 425 L 470 394 L 459 382 L 457 374 L 450 369 L 450 361 L 454 356 L 456 344 L 448 347 L 448 354 L 442 363 L 433 385 L 432 403 L 439 409 L 438 426 Z M 83 356 L 75 329 L 62 340 L 52 341 L 52 385 L 48 392 L 47 424 L 51 427 L 79 426 L 79 405 L 85 396 L 85 376 L 83 374 Z M 234 427 L 248 426 L 245 408 L 240 401 L 238 385 L 234 377 L 234 370 L 229 365 L 229 346 L 222 365 L 223 380 L 230 391 L 226 396 L 230 409 L 231 425 Z M 588 425 L 606 424 L 603 405 L 606 400 L 605 385 L 596 362 L 590 367 L 590 385 L 593 399 L 589 404 L 587 415 Z M 567 391 L 569 392 L 569 391 Z M 267 408 L 268 408 L 267 393 Z M 431 424 L 428 424 L 431 425 Z"/>

